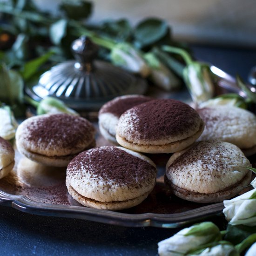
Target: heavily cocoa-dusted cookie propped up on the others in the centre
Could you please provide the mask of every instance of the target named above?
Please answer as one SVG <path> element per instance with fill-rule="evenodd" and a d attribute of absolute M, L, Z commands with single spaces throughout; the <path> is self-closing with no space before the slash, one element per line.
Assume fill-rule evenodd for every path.
<path fill-rule="evenodd" d="M 195 109 L 171 99 L 148 101 L 124 112 L 116 126 L 116 140 L 144 153 L 173 153 L 191 145 L 204 123 Z"/>

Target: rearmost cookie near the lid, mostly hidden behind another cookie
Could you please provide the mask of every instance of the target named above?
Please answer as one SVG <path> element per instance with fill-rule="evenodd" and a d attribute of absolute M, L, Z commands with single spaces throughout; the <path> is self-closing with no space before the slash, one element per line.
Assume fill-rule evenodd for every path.
<path fill-rule="evenodd" d="M 116 142 L 115 126 L 121 114 L 127 109 L 132 108 L 152 98 L 138 94 L 130 94 L 116 97 L 105 103 L 99 111 L 99 128 L 101 135 L 108 141 Z"/>

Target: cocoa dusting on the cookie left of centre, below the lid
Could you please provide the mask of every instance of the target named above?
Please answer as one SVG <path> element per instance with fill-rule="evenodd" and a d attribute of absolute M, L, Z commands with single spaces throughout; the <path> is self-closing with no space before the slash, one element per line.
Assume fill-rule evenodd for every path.
<path fill-rule="evenodd" d="M 48 115 L 32 121 L 29 130 L 29 141 L 37 143 L 58 144 L 61 148 L 73 149 L 78 144 L 92 141 L 94 126 L 86 119 L 67 114 Z"/>

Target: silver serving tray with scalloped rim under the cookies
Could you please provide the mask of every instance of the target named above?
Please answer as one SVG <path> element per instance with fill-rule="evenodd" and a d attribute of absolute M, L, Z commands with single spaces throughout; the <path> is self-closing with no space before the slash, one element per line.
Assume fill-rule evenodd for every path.
<path fill-rule="evenodd" d="M 211 70 L 216 74 L 217 84 L 222 89 L 246 96 L 236 86 L 233 77 L 214 66 Z M 149 94 L 182 101 L 187 101 L 189 98 L 187 91 L 170 95 L 155 94 L 155 91 L 151 91 Z M 110 145 L 99 131 L 96 140 L 97 146 Z M 156 163 L 159 171 L 155 189 L 136 207 L 123 211 L 108 211 L 87 208 L 74 201 L 65 186 L 65 169 L 42 166 L 16 151 L 13 171 L 0 180 L 0 205 L 30 214 L 78 218 L 128 227 L 177 228 L 222 214 L 222 202 L 200 204 L 171 195 L 163 182 L 165 164 L 170 155 L 148 156 Z"/>

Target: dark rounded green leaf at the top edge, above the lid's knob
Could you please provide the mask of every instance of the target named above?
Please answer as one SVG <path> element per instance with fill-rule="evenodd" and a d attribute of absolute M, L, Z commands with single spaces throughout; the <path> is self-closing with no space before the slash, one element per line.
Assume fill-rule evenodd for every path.
<path fill-rule="evenodd" d="M 61 2 L 60 9 L 67 18 L 81 20 L 88 18 L 91 14 L 92 3 L 85 0 L 64 0 Z"/>

